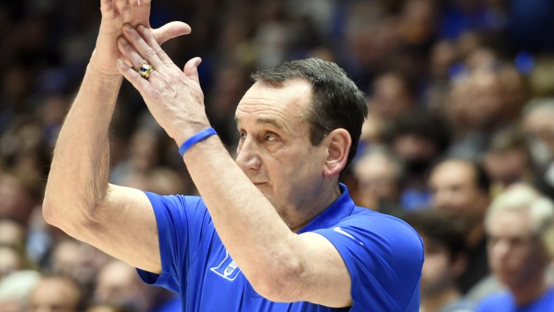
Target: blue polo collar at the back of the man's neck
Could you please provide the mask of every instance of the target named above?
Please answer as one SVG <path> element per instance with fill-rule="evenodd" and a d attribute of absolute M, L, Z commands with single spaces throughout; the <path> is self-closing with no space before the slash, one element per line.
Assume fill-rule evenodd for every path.
<path fill-rule="evenodd" d="M 352 198 L 350 198 L 348 188 L 342 183 L 339 183 L 339 188 L 340 196 L 335 202 L 330 204 L 321 214 L 318 214 L 318 216 L 311 220 L 304 228 L 300 229 L 297 232 L 298 234 L 318 230 L 320 228 L 330 228 L 346 216 L 352 214 L 355 204 Z"/>

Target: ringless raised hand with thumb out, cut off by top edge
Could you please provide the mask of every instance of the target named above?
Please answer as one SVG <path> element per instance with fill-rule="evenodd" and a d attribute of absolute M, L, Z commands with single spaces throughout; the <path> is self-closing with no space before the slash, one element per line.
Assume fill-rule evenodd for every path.
<path fill-rule="evenodd" d="M 117 38 L 122 35 L 123 25 L 144 25 L 150 28 L 151 0 L 101 0 L 102 21 L 96 49 L 91 58 L 91 65 L 104 74 L 117 74 L 116 62 L 122 58 L 117 47 Z M 184 22 L 169 22 L 153 30 L 152 34 L 158 44 L 191 32 L 191 27 Z"/>

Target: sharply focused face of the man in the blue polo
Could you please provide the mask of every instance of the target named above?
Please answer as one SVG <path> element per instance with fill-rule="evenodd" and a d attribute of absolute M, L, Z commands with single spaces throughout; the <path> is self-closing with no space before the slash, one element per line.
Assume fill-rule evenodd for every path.
<path fill-rule="evenodd" d="M 327 150 L 312 146 L 303 118 L 311 86 L 294 79 L 281 86 L 254 84 L 240 100 L 236 162 L 278 212 L 310 209 L 323 183 Z"/>

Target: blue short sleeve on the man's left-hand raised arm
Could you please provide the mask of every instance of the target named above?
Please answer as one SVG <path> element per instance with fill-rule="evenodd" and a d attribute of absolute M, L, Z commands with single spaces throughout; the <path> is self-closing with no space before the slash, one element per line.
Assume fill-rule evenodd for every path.
<path fill-rule="evenodd" d="M 186 287 L 182 282 L 186 280 L 188 264 L 200 245 L 202 226 L 210 221 L 210 216 L 200 197 L 145 193 L 156 217 L 162 273 L 137 271 L 147 284 L 179 292 L 180 287 Z"/>

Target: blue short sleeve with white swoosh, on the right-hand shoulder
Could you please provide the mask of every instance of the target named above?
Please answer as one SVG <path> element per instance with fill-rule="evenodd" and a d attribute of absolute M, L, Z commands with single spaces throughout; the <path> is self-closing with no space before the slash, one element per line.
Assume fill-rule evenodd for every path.
<path fill-rule="evenodd" d="M 423 242 L 404 221 L 368 212 L 315 232 L 337 248 L 349 270 L 351 311 L 418 311 Z"/>

